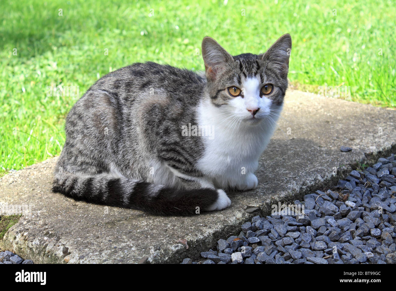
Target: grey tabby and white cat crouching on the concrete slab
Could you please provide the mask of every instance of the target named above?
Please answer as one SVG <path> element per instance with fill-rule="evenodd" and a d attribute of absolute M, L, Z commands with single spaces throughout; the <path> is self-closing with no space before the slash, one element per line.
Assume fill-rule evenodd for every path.
<path fill-rule="evenodd" d="M 103 76 L 66 118 L 53 192 L 156 215 L 221 210 L 257 186 L 288 86 L 291 37 L 230 55 L 202 41 L 205 72 L 135 63 Z"/>

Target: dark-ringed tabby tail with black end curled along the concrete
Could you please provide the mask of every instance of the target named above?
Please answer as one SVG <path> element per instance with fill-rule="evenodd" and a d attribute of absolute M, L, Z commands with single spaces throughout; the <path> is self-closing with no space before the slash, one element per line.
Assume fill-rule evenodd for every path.
<path fill-rule="evenodd" d="M 193 215 L 199 211 L 223 209 L 230 205 L 230 200 L 221 189 L 175 190 L 164 185 L 116 178 L 109 174 L 78 176 L 55 172 L 52 191 L 75 200 L 138 209 L 157 215 Z M 224 195 L 227 202 L 224 202 Z M 227 205 L 221 207 L 219 202 Z"/>

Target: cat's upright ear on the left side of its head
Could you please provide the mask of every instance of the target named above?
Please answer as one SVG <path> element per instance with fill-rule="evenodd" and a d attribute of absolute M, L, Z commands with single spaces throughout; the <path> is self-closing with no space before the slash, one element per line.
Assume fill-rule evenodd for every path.
<path fill-rule="evenodd" d="M 206 76 L 213 80 L 227 67 L 229 62 L 233 61 L 232 55 L 209 36 L 202 40 L 202 57 Z"/>

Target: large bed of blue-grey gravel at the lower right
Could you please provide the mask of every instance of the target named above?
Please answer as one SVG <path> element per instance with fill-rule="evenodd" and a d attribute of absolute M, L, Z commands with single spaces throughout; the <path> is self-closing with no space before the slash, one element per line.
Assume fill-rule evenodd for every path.
<path fill-rule="evenodd" d="M 379 158 L 331 190 L 295 200 L 303 216 L 255 216 L 202 260 L 182 264 L 395 264 L 395 175 L 394 154 Z"/>

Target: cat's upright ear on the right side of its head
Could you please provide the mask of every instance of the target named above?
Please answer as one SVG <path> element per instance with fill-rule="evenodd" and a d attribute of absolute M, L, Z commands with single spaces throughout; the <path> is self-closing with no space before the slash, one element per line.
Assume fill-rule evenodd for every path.
<path fill-rule="evenodd" d="M 261 59 L 269 61 L 273 67 L 286 77 L 289 71 L 289 57 L 291 53 L 291 36 L 284 34 L 265 52 Z"/>

